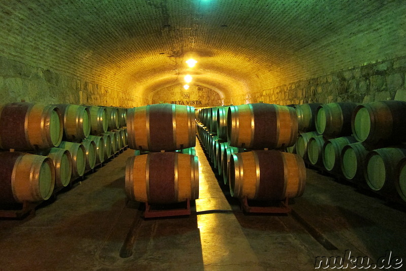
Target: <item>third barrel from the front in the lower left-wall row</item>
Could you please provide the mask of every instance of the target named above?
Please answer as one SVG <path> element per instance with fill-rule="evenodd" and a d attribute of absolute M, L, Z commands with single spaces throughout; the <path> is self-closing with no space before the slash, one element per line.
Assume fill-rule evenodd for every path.
<path fill-rule="evenodd" d="M 62 141 L 59 148 L 67 149 L 72 156 L 71 179 L 83 176 L 86 169 L 86 149 L 81 143 Z"/>

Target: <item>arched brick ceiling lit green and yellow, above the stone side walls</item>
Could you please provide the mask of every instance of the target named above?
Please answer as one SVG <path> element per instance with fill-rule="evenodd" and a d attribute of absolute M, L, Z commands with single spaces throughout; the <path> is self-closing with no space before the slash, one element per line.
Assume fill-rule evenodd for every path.
<path fill-rule="evenodd" d="M 391 19 L 383 9 L 399 11 L 394 17 L 405 10 L 403 1 L 360 0 L 11 0 L 0 8 L 1 55 L 138 97 L 187 73 L 224 96 L 326 73 L 315 63 L 312 74 L 304 68 L 318 54 L 301 57 L 310 45 L 334 46 L 338 34 L 349 43 L 359 33 L 373 39 L 374 25 Z M 351 64 L 361 63 L 352 54 Z"/>

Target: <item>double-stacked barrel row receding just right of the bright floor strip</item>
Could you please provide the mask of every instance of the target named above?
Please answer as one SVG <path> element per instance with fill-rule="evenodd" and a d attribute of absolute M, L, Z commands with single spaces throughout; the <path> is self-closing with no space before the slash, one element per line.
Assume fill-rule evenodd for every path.
<path fill-rule="evenodd" d="M 214 167 L 222 167 L 219 174 L 232 196 L 267 201 L 302 195 L 303 159 L 279 150 L 295 143 L 293 108 L 257 103 L 201 109 L 196 115 L 198 137 Z"/>

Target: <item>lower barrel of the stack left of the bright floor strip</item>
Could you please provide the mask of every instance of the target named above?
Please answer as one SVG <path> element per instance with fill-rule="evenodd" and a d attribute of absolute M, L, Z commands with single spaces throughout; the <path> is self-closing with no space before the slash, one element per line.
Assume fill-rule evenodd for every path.
<path fill-rule="evenodd" d="M 179 153 L 130 157 L 125 168 L 125 191 L 130 200 L 148 203 L 195 200 L 199 195 L 198 159 Z"/>

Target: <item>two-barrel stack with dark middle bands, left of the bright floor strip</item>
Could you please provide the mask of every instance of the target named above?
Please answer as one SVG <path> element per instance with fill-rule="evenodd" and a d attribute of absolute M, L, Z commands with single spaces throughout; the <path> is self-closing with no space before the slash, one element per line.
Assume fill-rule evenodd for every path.
<path fill-rule="evenodd" d="M 126 163 L 127 197 L 150 204 L 197 199 L 194 108 L 153 104 L 128 109 L 127 117 L 128 146 L 135 150 Z"/>

